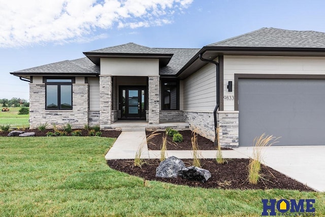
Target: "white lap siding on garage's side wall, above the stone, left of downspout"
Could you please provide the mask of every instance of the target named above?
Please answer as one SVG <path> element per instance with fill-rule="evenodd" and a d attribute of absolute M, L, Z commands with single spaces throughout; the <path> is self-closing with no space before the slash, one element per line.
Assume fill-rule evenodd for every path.
<path fill-rule="evenodd" d="M 211 111 L 216 105 L 215 65 L 208 64 L 183 82 L 184 110 Z"/>

